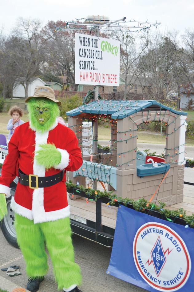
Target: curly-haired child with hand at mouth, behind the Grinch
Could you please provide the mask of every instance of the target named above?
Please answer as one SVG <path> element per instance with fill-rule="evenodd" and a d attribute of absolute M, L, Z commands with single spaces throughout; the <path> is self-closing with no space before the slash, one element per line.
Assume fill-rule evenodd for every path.
<path fill-rule="evenodd" d="M 24 121 L 20 120 L 20 117 L 23 116 L 22 109 L 17 106 L 13 106 L 9 110 L 9 115 L 12 117 L 12 119 L 9 120 L 7 124 L 7 130 L 10 130 L 7 143 L 11 139 L 11 136 L 14 133 L 15 128 L 17 128 L 19 125 L 24 124 Z"/>

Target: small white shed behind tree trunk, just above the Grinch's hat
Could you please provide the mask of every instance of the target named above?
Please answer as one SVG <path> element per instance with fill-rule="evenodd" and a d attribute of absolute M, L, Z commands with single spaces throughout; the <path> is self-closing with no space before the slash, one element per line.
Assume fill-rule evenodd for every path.
<path fill-rule="evenodd" d="M 20 98 L 25 98 L 25 89 L 24 86 L 26 86 L 26 83 L 24 82 L 24 78 L 20 77 L 16 80 L 14 84 L 14 90 L 13 90 L 13 97 L 20 97 Z M 23 84 L 24 86 L 23 86 Z M 45 85 L 45 82 L 41 78 L 33 77 L 30 78 L 29 86 L 28 86 L 28 96 L 34 94 L 34 90 L 36 86 L 42 86 Z"/>

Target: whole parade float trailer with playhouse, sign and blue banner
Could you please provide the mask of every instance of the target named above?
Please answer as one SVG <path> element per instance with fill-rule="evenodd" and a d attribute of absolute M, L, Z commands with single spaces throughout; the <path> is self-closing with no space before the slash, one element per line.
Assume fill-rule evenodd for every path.
<path fill-rule="evenodd" d="M 93 151 L 83 151 L 82 166 L 69 172 L 66 182 L 72 232 L 113 247 L 107 274 L 149 291 L 191 291 L 194 216 L 173 207 L 183 202 L 187 113 L 155 100 L 98 100 L 98 85 L 119 86 L 120 45 L 99 38 L 99 22 L 92 25 L 96 36 L 75 36 L 75 83 L 95 85 L 93 100 L 67 112 L 81 149 L 83 126 L 93 123 Z M 67 23 L 58 30 L 69 28 Z M 84 50 L 94 61 L 82 55 Z M 97 151 L 98 121 L 110 126 L 110 152 Z M 152 122 L 166 126 L 164 158 L 137 149 L 140 125 Z M 5 158 L 7 149 L 2 152 Z M 17 183 L 16 177 L 12 196 Z M 10 198 L 7 209 L 2 232 L 17 246 Z"/>

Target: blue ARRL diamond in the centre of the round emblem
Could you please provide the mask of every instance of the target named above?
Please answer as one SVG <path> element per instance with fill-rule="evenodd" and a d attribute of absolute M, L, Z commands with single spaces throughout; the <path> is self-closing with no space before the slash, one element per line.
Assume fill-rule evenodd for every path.
<path fill-rule="evenodd" d="M 159 276 L 164 264 L 166 262 L 166 257 L 162 248 L 162 244 L 160 241 L 160 236 L 156 240 L 156 243 L 151 251 L 152 262 L 154 264 L 154 268 L 157 276 Z"/>

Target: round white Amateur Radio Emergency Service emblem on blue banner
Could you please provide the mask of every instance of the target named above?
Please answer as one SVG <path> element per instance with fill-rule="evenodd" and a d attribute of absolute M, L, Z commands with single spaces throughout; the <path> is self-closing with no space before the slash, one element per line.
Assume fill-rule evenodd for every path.
<path fill-rule="evenodd" d="M 183 239 L 161 223 L 141 225 L 133 240 L 133 257 L 141 277 L 159 291 L 179 290 L 191 271 L 191 259 Z"/>

